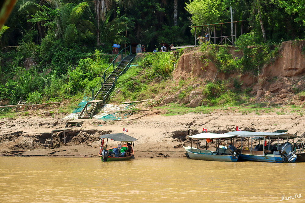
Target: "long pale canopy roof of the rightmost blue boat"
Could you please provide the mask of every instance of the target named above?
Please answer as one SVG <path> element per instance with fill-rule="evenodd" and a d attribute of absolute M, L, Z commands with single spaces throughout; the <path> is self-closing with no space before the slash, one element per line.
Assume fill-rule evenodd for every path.
<path fill-rule="evenodd" d="M 290 133 L 269 133 L 269 132 L 249 132 L 249 131 L 234 131 L 225 133 L 227 135 L 237 135 L 239 137 L 274 137 L 274 138 L 281 138 L 281 137 L 290 137 L 290 138 L 296 138 L 299 136 L 290 134 Z"/>

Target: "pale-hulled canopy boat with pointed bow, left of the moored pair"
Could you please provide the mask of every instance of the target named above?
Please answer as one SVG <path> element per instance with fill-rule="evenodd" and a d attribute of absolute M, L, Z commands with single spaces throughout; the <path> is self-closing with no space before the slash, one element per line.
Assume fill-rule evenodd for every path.
<path fill-rule="evenodd" d="M 197 135 L 189 136 L 191 138 L 191 145 L 193 140 L 206 140 L 206 142 L 211 141 L 212 139 L 216 140 L 216 151 L 210 151 L 206 149 L 198 149 L 191 147 L 183 147 L 189 158 L 198 159 L 198 160 L 207 160 L 207 161 L 223 161 L 223 162 L 236 162 L 238 160 L 238 151 L 233 145 L 228 147 L 219 145 L 220 140 L 229 140 L 234 135 L 224 135 L 216 133 L 200 133 Z"/>

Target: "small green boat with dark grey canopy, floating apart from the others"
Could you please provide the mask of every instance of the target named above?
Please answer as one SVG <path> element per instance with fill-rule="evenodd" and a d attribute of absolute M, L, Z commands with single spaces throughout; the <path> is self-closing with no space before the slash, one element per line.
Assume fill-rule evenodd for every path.
<path fill-rule="evenodd" d="M 136 138 L 126 135 L 124 133 L 114 133 L 114 134 L 106 134 L 101 135 L 101 146 L 99 156 L 103 162 L 110 162 L 110 161 L 123 161 L 134 158 L 133 155 L 133 145 L 134 142 L 137 141 Z M 104 141 L 107 138 L 106 146 L 104 147 Z M 107 148 L 108 139 L 113 141 L 118 141 L 117 147 Z M 122 144 L 122 142 L 126 142 Z"/>

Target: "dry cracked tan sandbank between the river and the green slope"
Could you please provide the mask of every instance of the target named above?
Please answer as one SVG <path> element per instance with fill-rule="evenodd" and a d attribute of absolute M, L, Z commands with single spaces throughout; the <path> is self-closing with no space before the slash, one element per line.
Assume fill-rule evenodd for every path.
<path fill-rule="evenodd" d="M 137 118 L 141 114 L 144 113 L 127 119 Z M 242 115 L 239 112 L 218 110 L 209 114 L 162 116 L 154 110 L 131 121 L 88 119 L 81 127 L 71 130 L 71 139 L 67 144 L 61 143 L 59 148 L 45 147 L 43 142 L 51 138 L 51 131 L 65 126 L 67 120 L 62 119 L 65 116 L 27 116 L 0 120 L 0 155 L 94 157 L 99 152 L 100 134 L 120 133 L 123 127 L 128 129 L 126 134 L 138 139 L 134 144 L 136 158 L 184 157 L 183 146 L 190 145 L 187 136 L 202 132 L 203 127 L 211 133 L 234 131 L 238 126 L 247 131 L 288 130 L 301 136 L 301 140 L 304 140 L 305 135 L 305 118 L 299 113 L 278 115 L 271 112 L 257 115 L 253 112 Z M 118 143 L 108 142 L 108 146 L 115 144 Z M 202 144 L 205 145 L 205 141 Z"/>

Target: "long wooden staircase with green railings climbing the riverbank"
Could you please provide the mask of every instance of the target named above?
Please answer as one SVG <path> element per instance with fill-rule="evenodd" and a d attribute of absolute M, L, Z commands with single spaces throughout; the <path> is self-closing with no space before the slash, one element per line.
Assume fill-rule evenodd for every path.
<path fill-rule="evenodd" d="M 103 108 L 103 106 L 105 105 L 107 96 L 110 94 L 110 92 L 114 88 L 114 85 L 117 82 L 118 77 L 121 76 L 129 68 L 130 63 L 132 62 L 132 60 L 135 57 L 136 57 L 136 54 L 129 54 L 128 56 L 126 56 L 124 59 L 122 59 L 122 61 L 118 64 L 117 68 L 114 69 L 107 78 L 105 78 L 105 72 L 107 71 L 107 69 L 106 69 L 106 71 L 104 72 L 104 82 L 101 83 L 101 87 L 97 91 L 95 96 L 93 96 L 94 89 L 92 90 L 92 99 L 93 100 L 90 102 L 87 102 L 87 104 L 82 109 L 81 113 L 78 115 L 78 119 L 92 118 L 95 110 L 98 108 L 99 105 L 101 108 Z M 110 66 L 111 66 L 111 64 L 110 64 Z"/>

